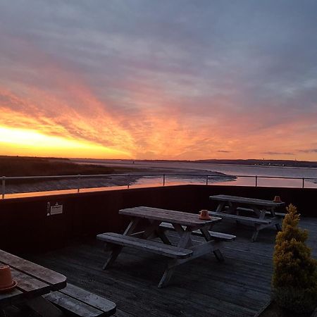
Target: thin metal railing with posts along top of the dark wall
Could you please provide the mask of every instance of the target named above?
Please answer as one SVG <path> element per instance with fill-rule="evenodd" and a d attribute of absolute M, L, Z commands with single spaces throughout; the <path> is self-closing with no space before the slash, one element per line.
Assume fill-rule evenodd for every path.
<path fill-rule="evenodd" d="M 212 179 L 215 181 L 215 178 L 223 178 L 226 182 L 230 182 L 233 180 L 236 180 L 237 178 L 254 178 L 254 186 L 259 186 L 259 179 L 276 179 L 276 180 L 301 180 L 302 181 L 302 188 L 305 187 L 305 182 L 307 180 L 313 181 L 317 178 L 296 178 L 296 177 L 288 177 L 288 176 L 263 176 L 263 175 L 214 175 L 214 174 L 185 174 L 185 173 L 164 173 L 164 174 L 157 174 L 157 173 L 151 173 L 151 174 L 138 174 L 138 173 L 130 173 L 130 174 L 92 174 L 92 175 L 52 175 L 52 176 L 2 176 L 1 177 L 1 197 L 4 199 L 6 195 L 6 182 L 8 180 L 58 180 L 58 179 L 66 179 L 66 178 L 73 178 L 77 179 L 77 192 L 80 192 L 80 189 L 84 189 L 87 187 L 82 187 L 82 179 L 85 178 L 113 178 L 116 176 L 125 176 L 127 177 L 128 181 L 125 186 L 130 188 L 131 186 L 131 178 L 162 178 L 161 185 L 166 185 L 166 178 L 202 178 L 204 179 L 204 183 L 206 185 L 209 185 L 209 180 Z M 108 187 L 112 187 L 116 185 L 110 185 Z M 299 186 L 298 186 L 299 187 Z M 317 187 L 317 185 L 316 185 Z M 97 187 L 95 187 L 97 188 Z M 57 190 L 57 189 L 52 189 Z"/>

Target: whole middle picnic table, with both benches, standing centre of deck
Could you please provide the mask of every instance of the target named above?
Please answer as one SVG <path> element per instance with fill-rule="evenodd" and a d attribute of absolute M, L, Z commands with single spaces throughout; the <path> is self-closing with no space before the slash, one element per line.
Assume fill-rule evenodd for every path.
<path fill-rule="evenodd" d="M 147 206 L 121 209 L 119 213 L 131 218 L 123 235 L 114 232 L 97 235 L 97 239 L 106 242 L 111 249 L 111 256 L 106 261 L 104 269 L 111 266 L 125 246 L 168 256 L 170 258 L 168 266 L 159 282 L 159 287 L 168 284 L 170 277 L 180 264 L 198 256 L 213 252 L 218 261 L 223 261 L 220 251 L 222 240 L 235 238 L 231 235 L 222 237 L 220 232 L 213 234 L 209 231 L 214 223 L 221 220 L 218 217 L 212 216 L 210 220 L 200 220 L 198 214 Z M 170 229 L 166 228 L 166 224 L 178 233 L 177 245 L 173 245 L 165 234 L 166 230 Z M 192 234 L 197 231 L 204 237 L 204 242 L 199 243 L 192 239 Z M 161 242 L 150 240 L 153 237 L 159 237 Z"/>

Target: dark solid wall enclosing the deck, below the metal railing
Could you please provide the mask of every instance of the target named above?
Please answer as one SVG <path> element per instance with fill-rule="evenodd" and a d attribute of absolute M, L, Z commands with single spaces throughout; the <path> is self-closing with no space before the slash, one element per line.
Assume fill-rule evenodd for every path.
<path fill-rule="evenodd" d="M 0 199 L 0 249 L 19 254 L 46 251 L 63 247 L 74 237 L 118 232 L 128 221 L 118 210 L 133 206 L 191 213 L 212 210 L 212 194 L 270 200 L 279 195 L 282 201 L 297 206 L 302 216 L 317 216 L 317 189 L 309 188 L 180 185 Z M 56 203 L 63 205 L 63 213 L 47 216 L 48 206 Z"/>

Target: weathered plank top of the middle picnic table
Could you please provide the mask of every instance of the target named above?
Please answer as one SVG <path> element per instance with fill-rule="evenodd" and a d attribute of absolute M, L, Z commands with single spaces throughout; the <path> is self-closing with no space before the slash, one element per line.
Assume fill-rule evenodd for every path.
<path fill-rule="evenodd" d="M 160 220 L 167 223 L 178 223 L 180 225 L 191 227 L 203 227 L 221 220 L 221 218 L 218 217 L 211 217 L 211 220 L 201 220 L 198 218 L 198 213 L 185 213 L 183 211 L 173 211 L 146 206 L 120 209 L 119 213 L 125 216 Z"/>

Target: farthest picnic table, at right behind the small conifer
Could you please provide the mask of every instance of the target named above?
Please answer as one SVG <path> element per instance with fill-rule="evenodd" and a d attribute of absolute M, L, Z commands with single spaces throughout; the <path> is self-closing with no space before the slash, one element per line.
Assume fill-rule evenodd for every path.
<path fill-rule="evenodd" d="M 214 195 L 209 199 L 218 201 L 216 211 L 211 211 L 209 214 L 221 218 L 230 218 L 236 220 L 237 223 L 246 223 L 247 225 L 254 225 L 254 232 L 251 241 L 256 241 L 259 231 L 271 226 L 276 227 L 277 230 L 281 228 L 281 217 L 285 213 L 276 213 L 275 209 L 284 206 L 284 202 L 275 202 L 265 199 L 254 199 L 247 197 L 238 197 L 230 195 Z M 247 212 L 250 216 L 242 216 L 240 212 Z"/>

